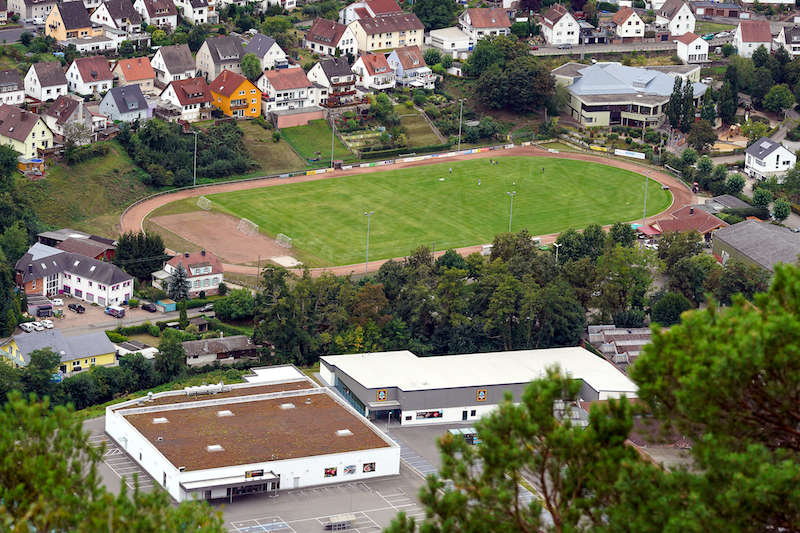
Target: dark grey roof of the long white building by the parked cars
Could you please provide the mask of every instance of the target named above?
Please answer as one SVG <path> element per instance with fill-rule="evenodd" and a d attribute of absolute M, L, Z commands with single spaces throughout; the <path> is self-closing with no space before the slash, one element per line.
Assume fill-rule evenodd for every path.
<path fill-rule="evenodd" d="M 40 243 L 28 248 L 25 255 L 17 261 L 15 269 L 22 275 L 23 283 L 59 272 L 70 272 L 105 285 L 115 285 L 132 278 L 111 263 L 64 252 Z"/>

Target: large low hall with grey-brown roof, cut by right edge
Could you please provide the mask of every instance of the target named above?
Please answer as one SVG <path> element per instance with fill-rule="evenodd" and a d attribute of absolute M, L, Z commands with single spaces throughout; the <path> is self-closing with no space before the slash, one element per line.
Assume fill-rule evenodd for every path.
<path fill-rule="evenodd" d="M 720 263 L 740 261 L 774 272 L 778 263 L 797 264 L 800 233 L 759 220 L 745 220 L 714 233 L 711 252 Z"/>

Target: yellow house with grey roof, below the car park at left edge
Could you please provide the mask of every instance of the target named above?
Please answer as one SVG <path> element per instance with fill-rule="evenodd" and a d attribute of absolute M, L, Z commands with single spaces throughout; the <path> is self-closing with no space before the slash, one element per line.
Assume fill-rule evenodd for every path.
<path fill-rule="evenodd" d="M 58 369 L 66 376 L 117 361 L 116 348 L 104 331 L 65 337 L 57 329 L 14 335 L 0 343 L 0 357 L 19 368 L 27 366 L 33 352 L 48 348 L 61 356 Z"/>

